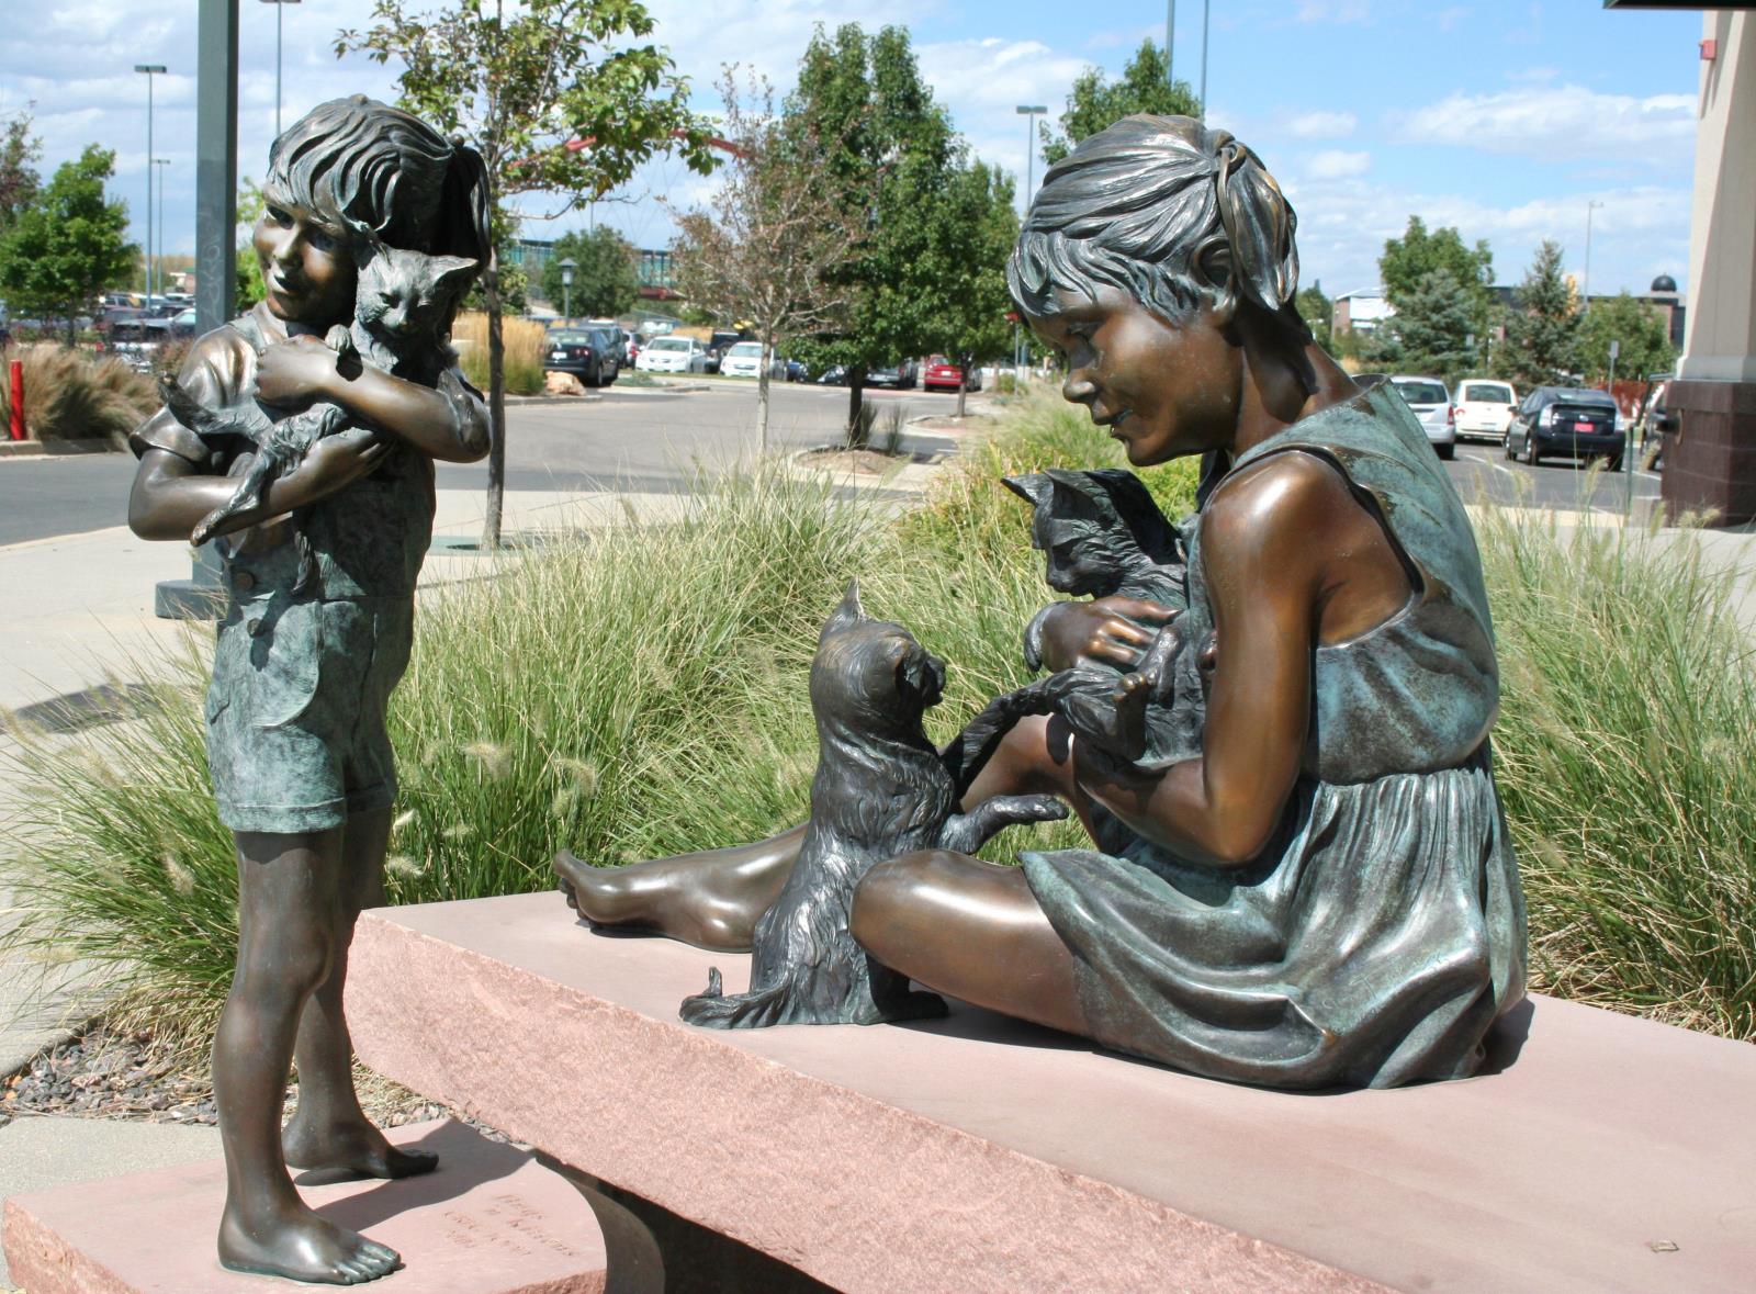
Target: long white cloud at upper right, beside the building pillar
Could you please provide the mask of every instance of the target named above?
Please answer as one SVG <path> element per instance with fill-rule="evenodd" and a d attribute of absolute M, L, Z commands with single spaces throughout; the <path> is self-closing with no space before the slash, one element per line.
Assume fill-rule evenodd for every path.
<path fill-rule="evenodd" d="M 1691 95 L 1605 95 L 1582 86 L 1531 86 L 1450 95 L 1393 118 L 1410 144 L 1456 144 L 1547 162 L 1624 160 L 1633 153 L 1684 163 L 1695 142 Z"/>

